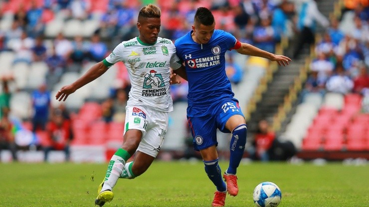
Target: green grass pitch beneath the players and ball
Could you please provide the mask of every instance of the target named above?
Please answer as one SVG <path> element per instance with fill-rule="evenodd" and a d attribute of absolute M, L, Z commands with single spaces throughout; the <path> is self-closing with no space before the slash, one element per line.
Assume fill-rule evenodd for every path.
<path fill-rule="evenodd" d="M 222 170 L 227 163 L 220 163 Z M 0 164 L 0 207 L 92 207 L 107 164 Z M 93 175 L 93 179 L 91 176 Z M 238 168 L 239 194 L 226 207 L 254 207 L 263 181 L 282 191 L 279 207 L 369 207 L 369 166 L 251 163 Z M 210 207 L 214 186 L 202 162 L 156 161 L 134 180 L 120 179 L 106 207 Z M 104 206 L 104 207 L 105 207 Z"/>

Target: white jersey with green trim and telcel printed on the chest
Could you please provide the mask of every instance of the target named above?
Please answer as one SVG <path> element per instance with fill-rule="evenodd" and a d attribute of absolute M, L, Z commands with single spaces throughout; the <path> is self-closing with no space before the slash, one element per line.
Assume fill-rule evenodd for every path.
<path fill-rule="evenodd" d="M 172 111 L 169 91 L 170 69 L 181 67 L 176 47 L 169 39 L 158 37 L 154 44 L 142 42 L 138 37 L 120 43 L 103 60 L 110 67 L 123 61 L 131 80 L 128 105 L 146 105 L 160 111 Z"/>

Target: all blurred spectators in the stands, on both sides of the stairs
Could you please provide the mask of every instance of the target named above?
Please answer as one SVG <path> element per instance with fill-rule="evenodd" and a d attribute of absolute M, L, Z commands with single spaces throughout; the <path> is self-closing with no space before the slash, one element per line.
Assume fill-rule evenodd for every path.
<path fill-rule="evenodd" d="M 305 94 L 319 92 L 324 96 L 326 91 L 355 92 L 369 97 L 368 1 L 357 1 L 355 6 L 345 7 L 341 18 L 330 20 L 326 33 L 316 44 L 317 57 L 311 63 L 311 75 L 301 100 Z M 122 63 L 112 67 L 100 81 L 83 87 L 65 104 L 55 102 L 53 97 L 61 86 L 103 60 L 121 41 L 138 36 L 137 15 L 145 4 L 161 7 L 162 37 L 175 41 L 187 33 L 196 8 L 205 6 L 214 14 L 216 29 L 274 53 L 283 38 L 291 40 L 303 31 L 299 19 L 305 14 L 301 8 L 311 2 L 315 3 L 314 0 L 2 0 L 0 108 L 4 119 L 2 130 L 7 132 L 2 133 L 1 140 L 6 141 L 1 142 L 16 141 L 14 135 L 24 129 L 31 132 L 29 140 L 6 148 L 35 145 L 45 152 L 57 149 L 68 154 L 70 142 L 90 143 L 89 133 L 97 134 L 96 130 L 101 129 L 101 136 L 107 136 L 113 124 L 123 123 L 130 83 Z M 342 30 L 343 22 L 352 29 Z M 300 49 L 296 49 L 296 54 Z M 227 53 L 226 72 L 231 83 L 237 85 L 242 82 L 244 66 L 234 61 L 233 56 L 234 52 Z M 175 103 L 186 101 L 187 89 L 185 81 L 171 86 Z M 98 112 L 86 113 L 84 105 Z M 10 122 L 8 114 L 12 114 Z M 81 123 L 86 117 L 91 123 Z M 96 126 L 91 125 L 95 123 Z M 63 131 L 58 132 L 62 138 L 52 132 L 58 127 L 59 132 Z M 118 140 L 122 131 L 112 137 Z"/>

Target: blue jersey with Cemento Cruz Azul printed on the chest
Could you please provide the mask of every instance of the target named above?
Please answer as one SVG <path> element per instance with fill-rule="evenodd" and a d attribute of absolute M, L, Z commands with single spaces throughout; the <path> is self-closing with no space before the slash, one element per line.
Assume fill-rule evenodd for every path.
<path fill-rule="evenodd" d="M 212 104 L 223 99 L 235 100 L 225 73 L 224 55 L 237 40 L 228 32 L 215 30 L 208 43 L 198 44 L 193 41 L 191 33 L 176 40 L 175 45 L 187 74 L 187 116 L 203 116 L 211 110 Z"/>

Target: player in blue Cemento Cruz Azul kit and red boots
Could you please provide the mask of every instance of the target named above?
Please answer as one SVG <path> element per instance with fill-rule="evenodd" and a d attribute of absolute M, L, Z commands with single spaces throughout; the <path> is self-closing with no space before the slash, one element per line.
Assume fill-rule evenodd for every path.
<path fill-rule="evenodd" d="M 211 11 L 205 7 L 197 8 L 192 31 L 175 42 L 177 55 L 185 65 L 185 69 L 175 73 L 188 81 L 187 120 L 194 148 L 200 151 L 205 172 L 216 186 L 212 206 L 224 206 L 227 191 L 231 196 L 238 194 L 236 171 L 247 134 L 245 117 L 225 74 L 224 54 L 234 49 L 240 54 L 267 58 L 283 66 L 291 59 L 241 43 L 230 33 L 214 28 Z M 223 174 L 226 184 L 218 165 L 217 128 L 232 133 L 229 167 Z"/>

